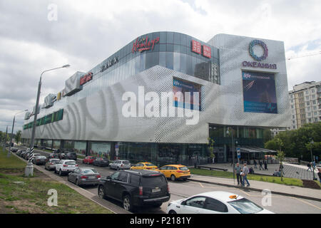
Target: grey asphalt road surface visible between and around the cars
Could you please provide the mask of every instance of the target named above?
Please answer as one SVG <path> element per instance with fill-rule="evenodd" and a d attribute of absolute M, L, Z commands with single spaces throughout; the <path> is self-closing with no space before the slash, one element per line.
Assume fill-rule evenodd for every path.
<path fill-rule="evenodd" d="M 39 152 L 43 155 L 48 155 L 48 152 L 42 152 L 41 150 L 35 150 L 35 152 Z M 83 164 L 77 161 L 79 167 L 94 167 L 102 177 L 106 177 L 111 175 L 115 170 L 111 170 L 109 167 L 96 167 L 93 165 Z M 44 168 L 44 165 L 42 165 Z M 54 171 L 52 171 L 54 172 Z M 58 176 L 58 175 L 57 175 Z M 67 181 L 67 175 L 60 177 L 63 180 Z M 210 192 L 210 191 L 226 191 L 232 192 L 236 195 L 242 195 L 250 199 L 251 201 L 255 202 L 256 204 L 260 205 L 261 207 L 268 209 L 272 212 L 277 214 L 321 214 L 321 202 L 307 200 L 307 199 L 300 199 L 296 197 L 286 197 L 282 195 L 271 195 L 270 197 L 270 204 L 267 204 L 267 197 L 262 195 L 261 192 L 255 192 L 251 190 L 240 190 L 237 187 L 224 187 L 220 185 L 212 185 L 212 184 L 205 184 L 201 182 L 193 182 L 193 181 L 175 181 L 172 182 L 168 180 L 170 186 L 170 201 L 176 199 L 182 199 L 185 197 L 190 197 L 202 192 Z M 94 186 L 84 186 L 82 187 L 84 190 L 97 195 L 97 187 Z M 264 198 L 263 198 L 264 197 Z M 264 199 L 264 200 L 263 200 Z M 98 197 L 94 197 L 99 203 L 102 203 L 102 200 Z M 121 202 L 117 202 L 113 199 L 108 199 L 109 206 L 112 206 L 114 212 L 121 213 L 123 212 Z M 106 202 L 107 203 L 107 202 Z M 143 207 L 136 210 L 135 213 L 138 214 L 164 214 L 166 212 L 168 202 L 162 204 L 161 207 L 153 208 L 153 207 Z"/>

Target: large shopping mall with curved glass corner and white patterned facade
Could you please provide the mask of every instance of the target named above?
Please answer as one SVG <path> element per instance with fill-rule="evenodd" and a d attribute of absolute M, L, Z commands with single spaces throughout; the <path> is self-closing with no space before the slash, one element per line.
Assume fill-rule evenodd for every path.
<path fill-rule="evenodd" d="M 287 97 L 282 41 L 218 34 L 204 42 L 148 33 L 47 95 L 35 145 L 193 165 L 208 162 L 212 138 L 215 162 L 230 162 L 237 148 L 251 160 L 271 152 L 263 149 L 265 129 L 290 124 Z M 25 117 L 26 145 L 33 115 Z"/>

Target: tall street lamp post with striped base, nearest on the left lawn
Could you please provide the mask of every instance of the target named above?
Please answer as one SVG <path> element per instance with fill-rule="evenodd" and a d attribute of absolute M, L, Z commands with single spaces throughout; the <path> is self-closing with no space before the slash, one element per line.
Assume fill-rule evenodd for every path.
<path fill-rule="evenodd" d="M 36 134 L 36 122 L 37 122 L 37 115 L 39 112 L 39 97 L 40 97 L 40 90 L 41 90 L 41 77 L 42 75 L 47 71 L 54 71 L 59 68 L 68 68 L 70 65 L 63 65 L 61 67 L 52 68 L 46 71 L 43 71 L 40 75 L 39 83 L 38 83 L 38 92 L 37 92 L 37 100 L 36 100 L 36 108 L 34 113 L 34 125 L 32 126 L 32 133 L 31 133 L 31 142 L 30 142 L 30 156 L 28 160 L 28 164 L 26 165 L 26 168 L 24 170 L 24 175 L 26 177 L 29 177 L 30 175 L 34 175 L 34 165 L 32 165 L 32 158 L 34 157 L 34 136 Z"/>

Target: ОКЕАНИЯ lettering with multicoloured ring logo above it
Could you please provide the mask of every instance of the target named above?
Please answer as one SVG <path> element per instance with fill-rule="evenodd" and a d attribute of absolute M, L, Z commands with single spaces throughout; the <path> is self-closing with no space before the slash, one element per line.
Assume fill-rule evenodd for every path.
<path fill-rule="evenodd" d="M 263 48 L 263 54 L 262 56 L 257 56 L 254 53 L 253 47 L 254 46 L 261 46 Z M 267 68 L 267 69 L 276 69 L 277 65 L 275 63 L 259 63 L 257 61 L 263 61 L 267 58 L 269 55 L 269 50 L 267 49 L 267 45 L 260 40 L 253 40 L 250 42 L 250 45 L 248 46 L 248 52 L 250 53 L 250 56 L 255 60 L 255 61 L 243 61 L 242 66 L 245 67 L 253 67 L 253 68 Z"/>

